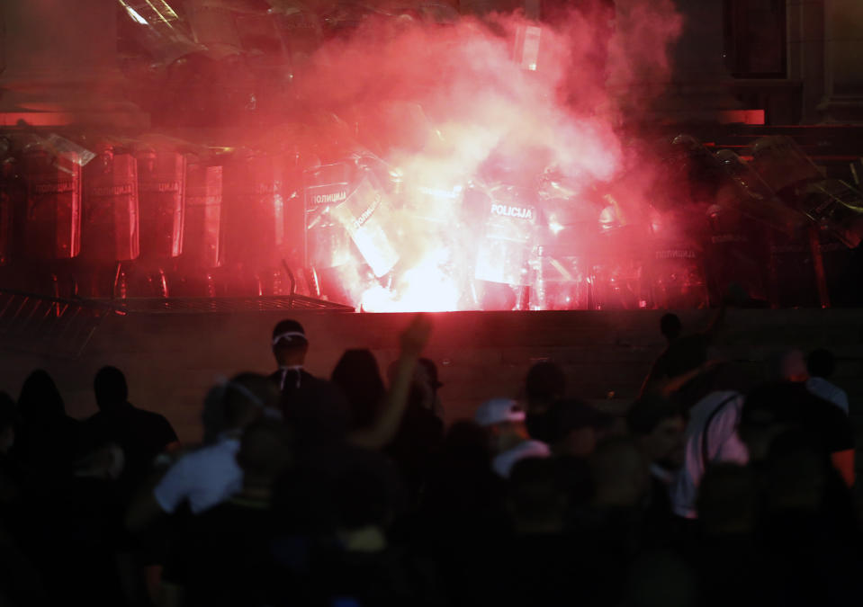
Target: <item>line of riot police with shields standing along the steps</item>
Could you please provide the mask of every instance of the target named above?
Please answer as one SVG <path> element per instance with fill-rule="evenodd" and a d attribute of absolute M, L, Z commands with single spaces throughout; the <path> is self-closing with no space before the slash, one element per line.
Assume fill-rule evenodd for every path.
<path fill-rule="evenodd" d="M 93 151 L 35 132 L 4 142 L 0 261 L 22 290 L 283 295 L 287 265 L 305 293 L 361 304 L 445 251 L 455 308 L 697 308 L 729 285 L 751 306 L 854 303 L 863 196 L 788 138 L 758 140 L 744 161 L 680 136 L 645 159 L 652 181 L 638 188 L 498 154 L 420 183 L 355 144 L 214 155 L 156 137 Z"/>

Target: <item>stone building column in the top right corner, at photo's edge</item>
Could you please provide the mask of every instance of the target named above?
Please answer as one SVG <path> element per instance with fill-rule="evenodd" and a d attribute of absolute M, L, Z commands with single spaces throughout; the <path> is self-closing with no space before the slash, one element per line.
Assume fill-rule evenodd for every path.
<path fill-rule="evenodd" d="M 824 0 L 826 122 L 863 122 L 863 2 Z"/>

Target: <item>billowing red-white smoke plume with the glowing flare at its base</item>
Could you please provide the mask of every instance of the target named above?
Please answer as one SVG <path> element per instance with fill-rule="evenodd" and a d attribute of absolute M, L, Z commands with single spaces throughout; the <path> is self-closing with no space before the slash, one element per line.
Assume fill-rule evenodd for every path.
<path fill-rule="evenodd" d="M 646 113 L 669 79 L 667 49 L 681 26 L 670 0 L 616 4 L 616 14 L 585 3 L 555 15 L 540 26 L 533 57 L 519 40 L 537 24 L 520 14 L 441 24 L 372 14 L 295 73 L 303 112 L 339 116 L 409 184 L 403 205 L 376 211 L 399 256 L 388 281 L 343 272 L 356 303 L 472 307 L 463 291 L 481 234 L 459 219 L 462 192 L 490 162 L 508 182 L 534 183 L 553 169 L 574 184 L 571 205 L 595 206 L 587 199 L 627 168 L 620 127 Z M 600 210 L 590 210 L 597 223 Z"/>

